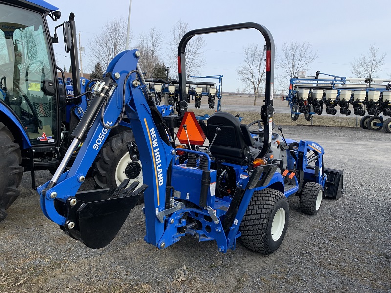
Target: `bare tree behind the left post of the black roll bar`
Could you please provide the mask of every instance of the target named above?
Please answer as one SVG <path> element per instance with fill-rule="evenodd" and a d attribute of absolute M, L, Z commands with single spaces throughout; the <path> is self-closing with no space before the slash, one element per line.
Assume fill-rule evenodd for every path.
<path fill-rule="evenodd" d="M 189 31 L 189 25 L 184 21 L 177 21 L 171 28 L 169 39 L 168 59 L 171 68 L 178 77 L 178 46 L 182 37 Z M 205 59 L 202 57 L 202 49 L 205 47 L 205 40 L 198 35 L 193 37 L 186 45 L 186 74 L 195 75 L 204 66 Z"/>

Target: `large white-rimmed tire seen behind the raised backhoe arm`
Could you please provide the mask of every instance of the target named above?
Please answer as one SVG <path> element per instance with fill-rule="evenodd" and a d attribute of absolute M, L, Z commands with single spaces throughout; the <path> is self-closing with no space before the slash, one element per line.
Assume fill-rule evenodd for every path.
<path fill-rule="evenodd" d="M 98 158 L 94 163 L 94 181 L 96 188 L 118 187 L 125 179 L 130 179 L 129 185 L 134 181 L 143 184 L 141 162 L 132 162 L 128 152 L 127 142 L 134 141 L 131 130 L 121 132 L 111 137 L 102 146 Z M 128 186 L 129 186 L 128 185 Z M 144 202 L 141 196 L 138 204 Z"/>

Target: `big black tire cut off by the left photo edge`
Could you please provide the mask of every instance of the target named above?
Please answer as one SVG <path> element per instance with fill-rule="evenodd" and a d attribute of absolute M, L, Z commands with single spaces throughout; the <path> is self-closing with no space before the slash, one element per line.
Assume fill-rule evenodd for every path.
<path fill-rule="evenodd" d="M 6 209 L 16 200 L 20 191 L 24 168 L 19 145 L 14 143 L 11 131 L 0 122 L 0 222 L 7 216 Z"/>

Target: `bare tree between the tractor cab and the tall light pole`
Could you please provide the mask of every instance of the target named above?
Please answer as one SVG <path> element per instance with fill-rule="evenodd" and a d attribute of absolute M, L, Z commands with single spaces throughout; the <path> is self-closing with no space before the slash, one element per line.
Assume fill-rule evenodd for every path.
<path fill-rule="evenodd" d="M 122 17 L 114 17 L 102 25 L 99 35 L 88 42 L 92 55 L 92 68 L 96 63 L 101 63 L 106 68 L 110 61 L 120 52 L 125 50 L 127 23 Z M 130 35 L 129 42 L 133 36 Z"/>

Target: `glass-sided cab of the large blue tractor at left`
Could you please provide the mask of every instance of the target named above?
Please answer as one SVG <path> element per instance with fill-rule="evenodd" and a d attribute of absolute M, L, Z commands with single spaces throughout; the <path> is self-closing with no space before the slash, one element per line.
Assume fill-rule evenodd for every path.
<path fill-rule="evenodd" d="M 0 100 L 32 146 L 58 137 L 58 99 L 47 24 L 37 11 L 0 3 Z"/>

